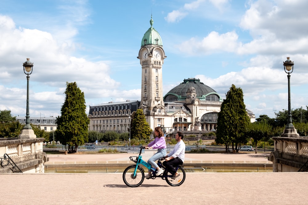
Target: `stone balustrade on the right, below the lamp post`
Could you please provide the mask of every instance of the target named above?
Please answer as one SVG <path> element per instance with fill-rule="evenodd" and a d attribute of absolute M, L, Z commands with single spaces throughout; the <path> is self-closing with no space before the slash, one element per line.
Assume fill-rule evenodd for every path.
<path fill-rule="evenodd" d="M 273 137 L 274 152 L 269 156 L 274 172 L 298 171 L 308 160 L 308 137 Z"/>

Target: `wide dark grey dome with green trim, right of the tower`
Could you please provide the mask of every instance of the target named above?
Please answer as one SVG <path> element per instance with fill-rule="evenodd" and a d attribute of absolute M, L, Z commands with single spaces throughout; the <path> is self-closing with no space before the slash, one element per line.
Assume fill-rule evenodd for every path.
<path fill-rule="evenodd" d="M 206 101 L 222 101 L 222 98 L 216 91 L 204 83 L 200 82 L 200 79 L 188 78 L 184 79 L 180 85 L 171 89 L 165 96 L 164 101 L 180 101 L 187 97 L 187 91 L 190 87 L 195 88 L 196 98 Z"/>

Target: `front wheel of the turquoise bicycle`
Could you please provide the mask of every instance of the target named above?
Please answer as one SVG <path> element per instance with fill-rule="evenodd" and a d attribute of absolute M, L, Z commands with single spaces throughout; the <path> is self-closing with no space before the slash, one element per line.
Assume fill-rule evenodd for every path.
<path fill-rule="evenodd" d="M 123 181 L 129 187 L 138 187 L 144 180 L 144 171 L 140 167 L 137 168 L 136 175 L 134 176 L 136 166 L 129 166 L 123 172 Z"/>

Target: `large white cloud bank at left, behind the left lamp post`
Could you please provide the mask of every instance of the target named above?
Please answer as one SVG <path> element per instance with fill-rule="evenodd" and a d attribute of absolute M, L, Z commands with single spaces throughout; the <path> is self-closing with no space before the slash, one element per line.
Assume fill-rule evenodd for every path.
<path fill-rule="evenodd" d="M 72 56 L 74 44 L 59 43 L 51 33 L 37 29 L 15 28 L 14 21 L 0 15 L 0 110 L 10 109 L 22 115 L 26 109 L 26 75 L 22 63 L 26 57 L 34 63 L 30 75 L 31 116 L 58 116 L 64 102 L 66 82 L 76 82 L 87 101 L 121 93 L 123 98 L 138 96 L 140 90 L 122 90 L 120 82 L 110 77 L 110 61 L 88 61 Z M 19 85 L 24 89 L 17 88 Z M 135 94 L 132 94 L 135 93 Z M 55 111 L 57 110 L 57 111 Z"/>

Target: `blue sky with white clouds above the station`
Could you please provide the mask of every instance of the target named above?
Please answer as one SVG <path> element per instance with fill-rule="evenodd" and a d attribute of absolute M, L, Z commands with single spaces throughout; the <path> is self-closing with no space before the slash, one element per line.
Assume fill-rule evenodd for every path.
<path fill-rule="evenodd" d="M 234 84 L 256 117 L 288 109 L 283 62 L 294 61 L 291 108 L 308 102 L 306 0 L 1 0 L 0 110 L 26 116 L 22 64 L 34 63 L 30 116 L 61 115 L 66 82 L 89 106 L 141 98 L 144 33 L 159 32 L 167 58 L 163 95 L 199 78 L 225 99 Z"/>

